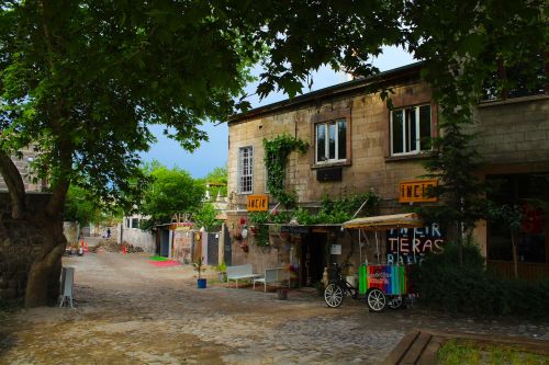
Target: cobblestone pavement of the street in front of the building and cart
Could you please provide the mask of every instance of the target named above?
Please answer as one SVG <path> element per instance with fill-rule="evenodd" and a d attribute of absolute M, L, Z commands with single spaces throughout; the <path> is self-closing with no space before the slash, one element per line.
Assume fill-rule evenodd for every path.
<path fill-rule="evenodd" d="M 547 322 L 372 313 L 350 299 L 332 309 L 309 292 L 199 290 L 190 266 L 159 269 L 146 254 L 65 259 L 76 309 L 0 317 L 0 364 L 377 364 L 415 328 L 549 341 Z"/>

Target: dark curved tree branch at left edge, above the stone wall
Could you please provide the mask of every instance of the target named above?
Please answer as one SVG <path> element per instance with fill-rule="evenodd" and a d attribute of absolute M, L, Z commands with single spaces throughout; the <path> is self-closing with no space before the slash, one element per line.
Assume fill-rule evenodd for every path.
<path fill-rule="evenodd" d="M 22 219 L 25 216 L 25 185 L 18 168 L 4 151 L 0 150 L 0 174 L 2 175 L 11 197 L 11 216 Z"/>

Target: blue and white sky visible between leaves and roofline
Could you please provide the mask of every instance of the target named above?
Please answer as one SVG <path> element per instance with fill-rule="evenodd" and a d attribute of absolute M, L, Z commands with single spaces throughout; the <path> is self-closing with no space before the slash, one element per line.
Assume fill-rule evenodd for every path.
<path fill-rule="evenodd" d="M 383 54 L 373 59 L 372 64 L 381 71 L 386 71 L 414 61 L 412 56 L 403 49 L 385 47 L 383 48 Z M 259 71 L 259 69 L 254 70 L 257 75 Z M 304 93 L 341 83 L 348 81 L 348 79 L 347 75 L 335 72 L 324 67 L 313 73 L 313 88 L 311 90 L 304 88 Z M 253 94 L 256 87 L 257 84 L 249 84 L 246 88 L 246 92 Z M 284 99 L 288 99 L 288 96 L 279 92 L 271 93 L 264 100 L 259 100 L 257 95 L 253 95 L 248 101 L 251 103 L 251 107 L 258 107 Z M 226 123 L 215 125 L 217 123 L 205 123 L 202 126 L 201 129 L 208 133 L 209 141 L 202 142 L 193 153 L 183 150 L 177 141 L 164 136 L 164 126 L 153 126 L 152 132 L 155 134 L 157 142 L 150 147 L 149 151 L 142 153 L 142 158 L 147 162 L 157 160 L 168 168 L 179 167 L 187 170 L 195 179 L 204 178 L 213 169 L 227 164 L 228 127 Z"/>

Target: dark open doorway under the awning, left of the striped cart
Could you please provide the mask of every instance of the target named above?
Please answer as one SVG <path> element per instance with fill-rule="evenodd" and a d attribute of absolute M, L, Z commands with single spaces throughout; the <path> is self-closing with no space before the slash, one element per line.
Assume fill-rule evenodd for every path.
<path fill-rule="evenodd" d="M 300 286 L 314 286 L 322 280 L 326 261 L 327 235 L 307 233 L 301 244 Z"/>

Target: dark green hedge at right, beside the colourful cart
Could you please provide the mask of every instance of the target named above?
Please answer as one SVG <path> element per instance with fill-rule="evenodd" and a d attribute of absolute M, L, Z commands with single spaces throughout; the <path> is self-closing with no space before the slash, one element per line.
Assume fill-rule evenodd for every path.
<path fill-rule="evenodd" d="M 426 258 L 412 273 L 421 301 L 430 308 L 482 315 L 549 317 L 549 281 L 528 283 L 505 280 L 484 269 L 477 246 L 463 246 L 463 264 L 458 247 L 447 243 L 445 251 Z"/>

